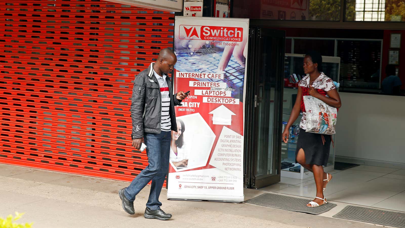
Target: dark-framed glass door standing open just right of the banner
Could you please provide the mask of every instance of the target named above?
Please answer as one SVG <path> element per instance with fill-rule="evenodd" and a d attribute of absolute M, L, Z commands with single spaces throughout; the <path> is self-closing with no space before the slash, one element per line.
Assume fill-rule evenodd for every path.
<path fill-rule="evenodd" d="M 284 31 L 251 27 L 245 149 L 245 186 L 280 181 Z"/>

